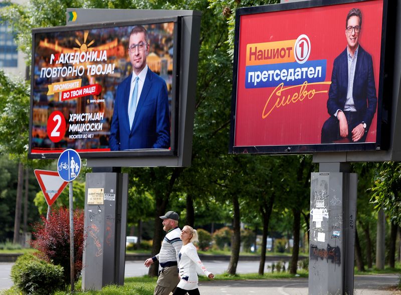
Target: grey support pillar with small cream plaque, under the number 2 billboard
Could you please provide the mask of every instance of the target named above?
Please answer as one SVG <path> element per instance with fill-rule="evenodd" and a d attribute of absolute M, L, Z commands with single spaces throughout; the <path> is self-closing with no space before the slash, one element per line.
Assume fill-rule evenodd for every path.
<path fill-rule="evenodd" d="M 94 168 L 86 174 L 82 290 L 124 285 L 128 174 Z"/>

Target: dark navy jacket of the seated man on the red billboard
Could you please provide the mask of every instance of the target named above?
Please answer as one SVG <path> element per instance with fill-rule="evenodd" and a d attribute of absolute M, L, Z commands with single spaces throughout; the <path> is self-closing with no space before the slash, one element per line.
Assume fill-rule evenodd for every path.
<path fill-rule="evenodd" d="M 330 115 L 340 109 L 343 110 L 347 98 L 348 87 L 348 59 L 347 49 L 336 57 L 331 74 L 331 85 L 327 110 Z M 376 112 L 377 97 L 374 85 L 372 57 L 359 45 L 358 57 L 356 59 L 354 84 L 352 88 L 354 105 L 361 121 L 364 121 L 368 130 L 373 115 Z"/>

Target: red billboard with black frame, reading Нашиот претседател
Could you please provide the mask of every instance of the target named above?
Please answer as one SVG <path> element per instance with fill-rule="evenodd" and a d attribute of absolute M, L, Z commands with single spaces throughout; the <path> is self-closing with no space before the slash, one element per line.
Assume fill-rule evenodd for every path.
<path fill-rule="evenodd" d="M 386 149 L 386 12 L 385 0 L 239 9 L 230 153 Z"/>

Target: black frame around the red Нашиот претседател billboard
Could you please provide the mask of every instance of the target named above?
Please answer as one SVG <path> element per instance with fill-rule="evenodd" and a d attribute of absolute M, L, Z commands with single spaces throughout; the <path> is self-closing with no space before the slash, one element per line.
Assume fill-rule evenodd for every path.
<path fill-rule="evenodd" d="M 304 2 L 293 2 L 277 5 L 266 5 L 259 7 L 240 8 L 236 11 L 235 41 L 234 41 L 234 67 L 233 67 L 233 88 L 231 101 L 231 128 L 230 128 L 230 154 L 311 154 L 316 152 L 384 152 L 390 148 L 390 123 L 392 106 L 392 85 L 393 85 L 393 64 L 389 60 L 394 52 L 395 28 L 388 26 L 392 20 L 387 20 L 391 14 L 393 5 L 387 0 L 383 0 L 382 30 L 380 44 L 380 66 L 378 69 L 379 79 L 377 88 L 377 122 L 376 122 L 376 141 L 362 143 L 314 143 L 314 144 L 286 144 L 286 145 L 247 145 L 235 146 L 236 132 L 236 112 L 237 112 L 237 90 L 238 90 L 238 70 L 239 70 L 239 32 L 241 16 L 290 11 L 297 9 L 307 9 L 316 7 L 327 7 L 333 5 L 369 2 L 372 0 L 334 0 L 327 3 L 324 0 L 311 0 Z M 385 56 L 388 56 L 385 59 Z M 384 95 L 385 94 L 385 95 Z"/>

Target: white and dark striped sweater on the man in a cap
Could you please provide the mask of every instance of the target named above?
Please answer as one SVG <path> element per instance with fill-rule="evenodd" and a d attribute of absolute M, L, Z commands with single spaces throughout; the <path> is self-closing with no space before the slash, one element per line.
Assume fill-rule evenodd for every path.
<path fill-rule="evenodd" d="M 179 238 L 181 230 L 177 226 L 167 232 L 166 236 L 161 243 L 159 254 L 153 256 L 153 261 L 159 260 L 161 267 L 177 265 L 179 268 L 178 253 L 182 247 L 182 241 Z"/>

